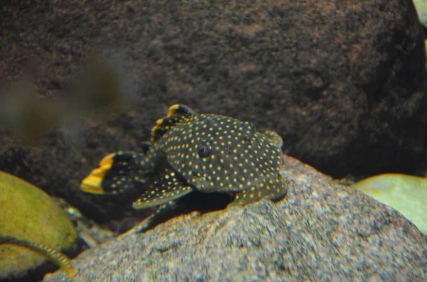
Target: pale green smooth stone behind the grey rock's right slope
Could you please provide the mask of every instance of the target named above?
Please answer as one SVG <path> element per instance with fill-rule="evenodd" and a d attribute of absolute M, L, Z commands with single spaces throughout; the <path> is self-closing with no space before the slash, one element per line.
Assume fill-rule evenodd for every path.
<path fill-rule="evenodd" d="M 352 187 L 393 207 L 421 232 L 427 232 L 427 178 L 381 174 L 359 181 Z"/>

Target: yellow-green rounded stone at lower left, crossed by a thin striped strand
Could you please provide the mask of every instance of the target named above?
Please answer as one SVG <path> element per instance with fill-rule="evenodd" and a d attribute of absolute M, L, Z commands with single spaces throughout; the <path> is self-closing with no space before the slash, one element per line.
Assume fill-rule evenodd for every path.
<path fill-rule="evenodd" d="M 77 234 L 63 210 L 36 186 L 0 171 L 0 235 L 68 249 Z M 0 279 L 22 276 L 46 260 L 23 246 L 0 244 Z"/>

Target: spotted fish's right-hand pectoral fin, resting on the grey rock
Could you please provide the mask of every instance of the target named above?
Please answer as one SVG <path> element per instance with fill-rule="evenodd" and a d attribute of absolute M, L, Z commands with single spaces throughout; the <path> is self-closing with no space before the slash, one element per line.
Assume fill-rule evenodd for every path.
<path fill-rule="evenodd" d="M 239 191 L 229 206 L 244 206 L 264 198 L 277 200 L 286 195 L 288 188 L 288 180 L 281 175 L 274 178 L 262 178 L 251 188 Z"/>

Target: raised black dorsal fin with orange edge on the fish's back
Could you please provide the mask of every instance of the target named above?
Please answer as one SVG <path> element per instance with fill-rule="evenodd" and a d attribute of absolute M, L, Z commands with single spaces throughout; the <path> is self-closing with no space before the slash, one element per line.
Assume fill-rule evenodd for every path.
<path fill-rule="evenodd" d="M 152 128 L 151 141 L 154 143 L 159 140 L 169 129 L 174 128 L 176 124 L 191 119 L 192 116 L 197 116 L 197 114 L 189 107 L 183 104 L 172 105 L 169 107 L 167 116 L 156 121 L 156 125 Z"/>

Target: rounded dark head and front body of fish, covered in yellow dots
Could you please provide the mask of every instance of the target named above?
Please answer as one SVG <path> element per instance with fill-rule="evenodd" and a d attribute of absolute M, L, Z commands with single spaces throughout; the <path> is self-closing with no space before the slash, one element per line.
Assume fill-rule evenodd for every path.
<path fill-rule="evenodd" d="M 199 114 L 164 136 L 167 160 L 202 192 L 236 192 L 279 175 L 280 148 L 248 121 Z M 275 176 L 274 176 L 275 177 Z"/>

